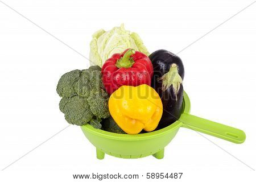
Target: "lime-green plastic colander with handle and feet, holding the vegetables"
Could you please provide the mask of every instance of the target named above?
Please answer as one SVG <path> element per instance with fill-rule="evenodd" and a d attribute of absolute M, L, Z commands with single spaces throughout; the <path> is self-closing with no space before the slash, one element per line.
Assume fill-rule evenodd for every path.
<path fill-rule="evenodd" d="M 136 159 L 153 155 L 157 159 L 164 156 L 164 147 L 175 137 L 180 127 L 185 127 L 233 143 L 243 143 L 245 133 L 234 127 L 222 125 L 189 114 L 190 101 L 183 96 L 183 114 L 172 125 L 164 129 L 137 135 L 117 134 L 94 129 L 91 125 L 81 126 L 84 135 L 96 147 L 97 158 L 104 159 L 105 154 L 118 158 Z"/>

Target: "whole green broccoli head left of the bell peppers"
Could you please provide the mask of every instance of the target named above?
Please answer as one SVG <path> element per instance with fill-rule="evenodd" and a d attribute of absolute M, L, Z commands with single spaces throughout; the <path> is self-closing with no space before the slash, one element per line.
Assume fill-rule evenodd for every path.
<path fill-rule="evenodd" d="M 57 84 L 61 98 L 60 111 L 72 125 L 90 123 L 101 128 L 101 118 L 110 117 L 108 94 L 102 83 L 101 68 L 92 66 L 82 71 L 76 69 L 61 76 Z"/>

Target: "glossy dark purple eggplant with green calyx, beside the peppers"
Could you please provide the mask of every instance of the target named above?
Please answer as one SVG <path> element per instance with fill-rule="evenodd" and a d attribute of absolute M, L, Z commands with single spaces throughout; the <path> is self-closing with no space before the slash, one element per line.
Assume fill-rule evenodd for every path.
<path fill-rule="evenodd" d="M 184 66 L 180 57 L 163 49 L 148 57 L 154 69 L 151 86 L 163 103 L 163 115 L 157 129 L 163 129 L 177 121 L 182 113 Z"/>

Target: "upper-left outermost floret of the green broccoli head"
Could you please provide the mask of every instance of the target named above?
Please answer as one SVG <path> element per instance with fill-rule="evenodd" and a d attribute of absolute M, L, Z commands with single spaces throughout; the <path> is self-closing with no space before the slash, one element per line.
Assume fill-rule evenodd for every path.
<path fill-rule="evenodd" d="M 70 97 L 72 94 L 76 94 L 75 86 L 79 81 L 80 74 L 81 71 L 76 69 L 60 77 L 56 89 L 60 97 Z"/>

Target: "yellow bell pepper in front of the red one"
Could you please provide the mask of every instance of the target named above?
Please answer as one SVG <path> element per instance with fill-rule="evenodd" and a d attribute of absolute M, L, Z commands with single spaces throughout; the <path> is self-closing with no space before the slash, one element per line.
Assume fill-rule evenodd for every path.
<path fill-rule="evenodd" d="M 123 85 L 109 98 L 109 111 L 114 121 L 127 134 L 153 131 L 163 114 L 158 93 L 146 84 Z"/>

